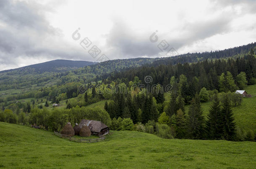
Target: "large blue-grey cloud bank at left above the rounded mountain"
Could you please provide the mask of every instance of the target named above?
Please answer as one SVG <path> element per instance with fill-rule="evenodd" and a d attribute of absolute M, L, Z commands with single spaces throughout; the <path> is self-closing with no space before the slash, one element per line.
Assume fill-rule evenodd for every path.
<path fill-rule="evenodd" d="M 46 20 L 46 12 L 52 10 L 32 1 L 0 1 L 0 23 L 5 25 L 0 27 L 2 64 L 16 65 L 15 58 L 18 56 L 44 56 L 50 59 L 84 57 L 84 53 L 70 48 L 67 43 L 56 43 L 62 33 Z"/>

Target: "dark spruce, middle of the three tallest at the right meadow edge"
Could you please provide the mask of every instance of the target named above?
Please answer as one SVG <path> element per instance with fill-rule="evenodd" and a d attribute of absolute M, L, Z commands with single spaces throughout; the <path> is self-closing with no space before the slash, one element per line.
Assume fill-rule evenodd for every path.
<path fill-rule="evenodd" d="M 222 131 L 224 129 L 222 121 L 222 112 L 219 103 L 219 97 L 216 93 L 212 106 L 209 110 L 208 120 L 206 121 L 206 131 L 208 139 L 221 139 Z"/>

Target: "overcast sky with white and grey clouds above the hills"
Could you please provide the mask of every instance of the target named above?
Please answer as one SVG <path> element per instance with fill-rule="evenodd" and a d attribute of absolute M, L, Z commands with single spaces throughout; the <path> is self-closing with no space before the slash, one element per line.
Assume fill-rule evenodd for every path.
<path fill-rule="evenodd" d="M 0 71 L 246 45 L 255 9 L 255 0 L 0 0 Z"/>

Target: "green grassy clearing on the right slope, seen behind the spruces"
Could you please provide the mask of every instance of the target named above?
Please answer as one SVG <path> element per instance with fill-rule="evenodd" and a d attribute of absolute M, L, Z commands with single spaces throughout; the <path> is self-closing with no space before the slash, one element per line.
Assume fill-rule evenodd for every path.
<path fill-rule="evenodd" d="M 234 118 L 237 126 L 242 129 L 256 130 L 256 85 L 247 86 L 245 89 L 251 98 L 243 98 L 240 106 L 233 107 Z M 211 102 L 202 103 L 204 115 L 207 116 Z M 185 106 L 185 111 L 188 112 L 189 106 Z"/>

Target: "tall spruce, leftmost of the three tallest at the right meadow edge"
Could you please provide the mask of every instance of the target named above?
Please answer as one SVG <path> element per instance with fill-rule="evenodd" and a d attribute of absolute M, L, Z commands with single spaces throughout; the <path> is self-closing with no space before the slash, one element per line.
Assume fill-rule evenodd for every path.
<path fill-rule="evenodd" d="M 198 94 L 191 101 L 187 127 L 190 139 L 202 139 L 204 137 L 204 116 Z"/>

